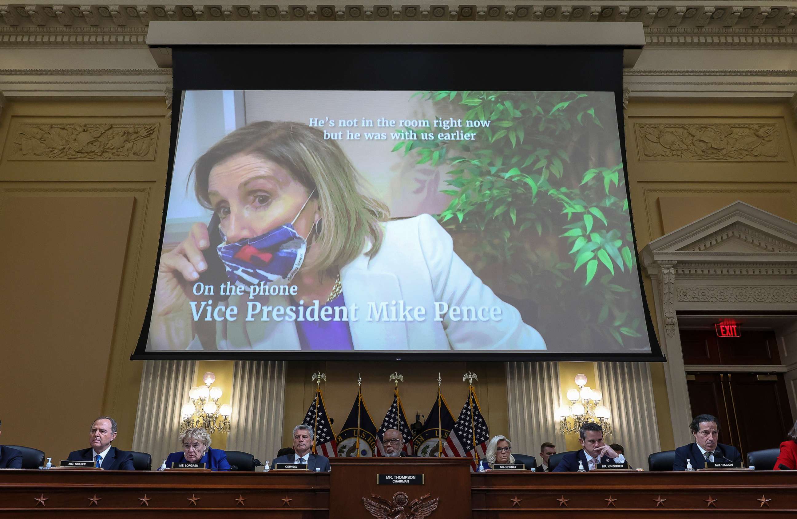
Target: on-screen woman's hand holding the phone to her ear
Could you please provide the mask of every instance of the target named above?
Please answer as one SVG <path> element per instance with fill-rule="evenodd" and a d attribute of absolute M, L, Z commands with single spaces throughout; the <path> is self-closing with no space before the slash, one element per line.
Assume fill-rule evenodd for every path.
<path fill-rule="evenodd" d="M 184 312 L 190 301 L 202 299 L 202 296 L 194 295 L 191 287 L 199 279 L 199 274 L 207 269 L 202 251 L 209 245 L 207 225 L 198 222 L 191 226 L 185 240 L 160 256 L 153 314 L 166 317 Z"/>

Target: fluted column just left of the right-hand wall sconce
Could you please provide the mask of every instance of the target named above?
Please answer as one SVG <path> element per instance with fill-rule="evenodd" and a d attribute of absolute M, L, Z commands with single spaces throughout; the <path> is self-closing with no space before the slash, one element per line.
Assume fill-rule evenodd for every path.
<path fill-rule="evenodd" d="M 556 430 L 554 417 L 559 406 L 559 365 L 507 362 L 506 384 L 512 451 L 537 456 L 544 442 L 555 443 L 563 451 L 564 436 Z M 491 432 L 501 434 L 501 431 Z"/>

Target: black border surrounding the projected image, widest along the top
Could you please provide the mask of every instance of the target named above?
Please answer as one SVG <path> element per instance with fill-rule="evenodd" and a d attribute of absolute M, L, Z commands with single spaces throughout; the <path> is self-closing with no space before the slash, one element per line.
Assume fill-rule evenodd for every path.
<path fill-rule="evenodd" d="M 171 135 L 166 191 L 163 199 L 158 254 L 171 191 L 172 171 L 179 131 L 180 109 L 184 90 L 439 90 L 452 84 L 474 85 L 473 89 L 548 90 L 614 92 L 614 106 L 622 155 L 626 196 L 630 185 L 626 160 L 626 137 L 623 121 L 621 46 L 530 46 L 530 45 L 179 45 L 172 47 L 174 90 L 172 92 Z M 525 59 L 524 59 L 525 58 Z M 275 66 L 251 70 L 253 64 L 266 60 Z M 414 63 L 413 60 L 419 60 Z M 544 76 L 495 74 L 474 79 L 466 65 L 488 63 L 493 70 L 505 70 L 518 64 L 542 64 Z M 304 66 L 304 64 L 312 64 Z M 511 68 L 510 68 L 511 69 Z M 277 70 L 278 73 L 272 73 Z M 367 73 L 363 74 L 363 70 Z M 402 73 L 396 74 L 400 70 Z M 485 85 L 489 83 L 489 85 Z M 461 87 L 460 87 L 461 88 Z M 634 252 L 638 250 L 631 206 L 628 208 Z M 155 300 L 160 256 L 147 313 L 138 344 L 131 360 L 226 360 L 226 361 L 630 361 L 665 362 L 651 319 L 642 264 L 637 254 L 637 273 L 645 314 L 650 353 L 545 353 L 540 350 L 490 352 L 426 351 L 260 351 L 260 350 L 181 350 L 147 351 L 147 338 Z"/>

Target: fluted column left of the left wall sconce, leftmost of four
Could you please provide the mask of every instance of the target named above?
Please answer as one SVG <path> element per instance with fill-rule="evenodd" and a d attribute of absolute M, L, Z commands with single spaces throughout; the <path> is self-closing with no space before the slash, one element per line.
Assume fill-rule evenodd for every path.
<path fill-rule="evenodd" d="M 154 469 L 180 450 L 180 408 L 188 401 L 195 371 L 196 361 L 144 361 L 133 451 L 151 454 Z"/>

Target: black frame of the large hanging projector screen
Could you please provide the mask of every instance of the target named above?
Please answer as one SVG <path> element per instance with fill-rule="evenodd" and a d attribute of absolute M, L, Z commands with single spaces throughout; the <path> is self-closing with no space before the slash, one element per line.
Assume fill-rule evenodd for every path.
<path fill-rule="evenodd" d="M 462 71 L 462 60 L 469 59 L 479 62 L 485 60 L 488 55 L 490 63 L 499 68 L 501 65 L 508 66 L 516 64 L 519 57 L 529 57 L 526 53 L 535 53 L 534 57 L 551 64 L 562 64 L 561 58 L 563 56 L 587 56 L 592 57 L 594 60 L 588 62 L 589 67 L 592 68 L 591 73 L 585 73 L 584 68 L 576 70 L 563 71 L 564 73 L 554 76 L 548 74 L 547 78 L 540 78 L 535 80 L 534 84 L 524 83 L 523 80 L 512 78 L 507 80 L 504 78 L 493 78 L 489 81 L 489 88 L 497 90 L 539 90 L 539 91 L 594 91 L 594 92 L 614 92 L 614 105 L 617 114 L 618 133 L 620 139 L 620 150 L 622 155 L 623 174 L 626 180 L 626 196 L 630 200 L 630 186 L 628 182 L 628 170 L 626 161 L 626 146 L 625 146 L 625 129 L 623 124 L 623 105 L 622 105 L 622 47 L 619 46 L 569 46 L 569 47 L 551 47 L 551 46 L 505 46 L 505 45 L 465 45 L 465 46 L 443 46 L 443 45 L 383 45 L 374 48 L 365 48 L 362 45 L 304 45 L 298 47 L 282 46 L 282 45 L 269 45 L 269 46 L 233 46 L 233 45 L 184 45 L 175 47 L 174 49 L 178 56 L 175 60 L 175 90 L 173 91 L 172 103 L 172 126 L 171 126 L 171 139 L 167 172 L 167 185 L 166 193 L 163 201 L 163 222 L 159 237 L 158 252 L 163 247 L 163 236 L 166 228 L 167 207 L 169 201 L 169 193 L 171 189 L 171 174 L 175 165 L 175 150 L 177 145 L 177 137 L 179 130 L 179 120 L 181 113 L 181 105 L 183 101 L 183 88 L 185 78 L 191 74 L 198 74 L 196 68 L 192 72 L 192 67 L 198 65 L 205 66 L 212 64 L 214 69 L 208 71 L 205 69 L 201 76 L 194 78 L 194 83 L 191 84 L 191 90 L 308 90 L 308 88 L 296 88 L 301 84 L 306 87 L 309 80 L 316 80 L 313 84 L 312 90 L 434 90 L 435 87 L 450 87 L 451 84 L 459 86 L 463 81 L 467 82 L 466 77 L 452 77 L 460 76 L 457 70 Z M 181 60 L 179 56 L 194 57 L 192 62 L 190 59 Z M 197 60 L 197 57 L 212 55 L 216 57 L 215 60 Z M 223 57 L 222 57 L 223 56 Z M 282 75 L 281 80 L 277 84 L 273 84 L 272 78 L 264 78 L 257 74 L 249 74 L 247 76 L 246 84 L 241 84 L 238 80 L 237 83 L 230 83 L 230 76 L 225 75 L 226 68 L 234 70 L 238 66 L 251 64 L 253 57 L 281 57 L 282 61 L 303 63 L 302 60 L 312 59 L 314 64 L 319 65 L 312 70 L 312 74 L 316 77 L 311 77 L 311 71 L 297 69 L 300 72 Z M 220 58 L 222 57 L 222 58 Z M 383 60 L 375 60 L 375 57 L 382 57 Z M 402 68 L 401 64 L 395 63 L 395 58 L 400 57 L 404 60 L 411 60 L 412 58 L 426 58 L 424 64 L 426 72 L 433 71 L 436 77 L 430 76 L 422 77 L 418 73 L 404 73 L 397 78 L 388 77 L 387 74 L 395 72 L 396 68 Z M 434 58 L 446 57 L 442 64 L 434 64 Z M 326 58 L 326 59 L 324 59 Z M 334 59 L 332 59 L 334 58 Z M 387 59 L 385 59 L 387 58 Z M 318 78 L 324 78 L 324 74 L 334 72 L 335 64 L 341 64 L 344 61 L 346 67 L 356 68 L 357 65 L 371 65 L 371 75 L 367 78 L 360 76 L 347 76 L 345 73 L 341 77 L 330 76 L 325 80 L 319 81 Z M 514 63 L 513 63 L 514 61 Z M 443 69 L 441 72 L 441 68 Z M 587 67 L 585 67 L 587 68 Z M 616 77 L 607 78 L 601 77 L 601 72 L 607 69 L 614 68 L 617 71 Z M 603 70 L 602 70 L 603 69 Z M 559 71 L 563 69 L 559 67 Z M 340 71 L 340 68 L 338 69 Z M 448 74 L 448 76 L 446 76 Z M 269 79 L 271 81 L 269 81 Z M 264 81 L 266 81 L 264 83 Z M 422 82 L 422 84 L 419 84 Z M 520 83 L 520 84 L 518 84 Z M 470 84 L 473 84 L 473 79 L 470 79 Z M 463 86 L 470 86 L 470 84 L 463 84 Z M 564 88 L 567 85 L 567 88 Z M 606 88 L 609 86 L 611 88 Z M 204 87 L 204 88 L 194 88 Z M 356 88 L 355 88 L 356 87 Z M 533 88 L 532 88 L 533 87 Z M 177 124 L 175 124 L 177 123 Z M 633 214 L 629 205 L 629 217 L 631 221 L 631 232 L 634 239 L 634 253 L 638 251 L 637 237 L 633 225 Z M 638 254 L 637 254 L 638 257 Z M 549 353 L 545 350 L 503 350 L 503 351 L 473 351 L 473 350 L 449 350 L 449 351 L 414 351 L 402 350 L 400 352 L 375 352 L 375 351 L 296 351 L 296 350 L 277 350 L 277 351 L 263 351 L 252 349 L 241 350 L 180 350 L 180 351 L 147 351 L 147 338 L 149 335 L 149 326 L 151 322 L 152 306 L 155 298 L 155 282 L 157 279 L 159 258 L 155 265 L 155 277 L 152 281 L 151 295 L 147 306 L 147 313 L 142 325 L 142 332 L 139 337 L 138 344 L 136 345 L 134 353 L 132 353 L 132 360 L 284 360 L 284 361 L 665 361 L 664 354 L 662 353 L 661 346 L 658 338 L 656 337 L 653 322 L 651 318 L 650 308 L 647 304 L 646 291 L 644 283 L 642 282 L 642 268 L 637 267 L 638 283 L 642 296 L 643 313 L 645 317 L 645 326 L 650 338 L 650 353 Z"/>

